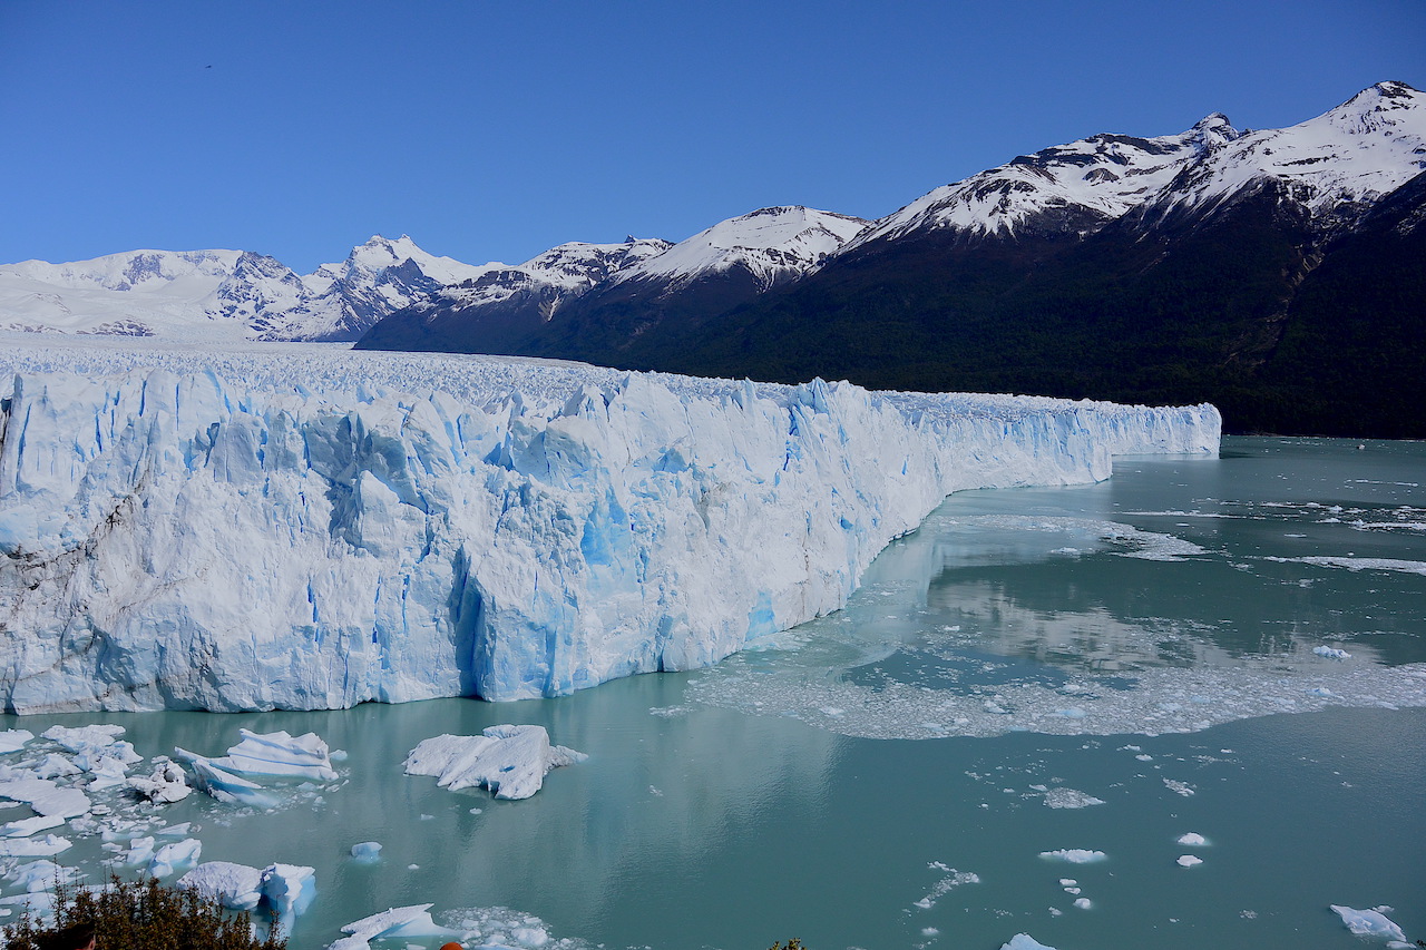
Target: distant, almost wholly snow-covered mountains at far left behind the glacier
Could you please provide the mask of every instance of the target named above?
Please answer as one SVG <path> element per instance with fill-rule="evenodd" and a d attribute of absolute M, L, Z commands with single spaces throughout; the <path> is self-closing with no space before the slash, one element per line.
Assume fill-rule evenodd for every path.
<path fill-rule="evenodd" d="M 0 265 L 0 330 L 171 339 L 355 339 L 473 267 L 402 235 L 298 275 L 251 251 L 130 251 Z"/>

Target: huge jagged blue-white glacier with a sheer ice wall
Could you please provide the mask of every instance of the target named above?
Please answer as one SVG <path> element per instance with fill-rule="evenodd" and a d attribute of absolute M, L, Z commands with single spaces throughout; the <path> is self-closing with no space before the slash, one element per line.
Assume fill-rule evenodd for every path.
<path fill-rule="evenodd" d="M 945 495 L 1215 452 L 1211 405 L 16 341 L 7 712 L 565 695 L 836 611 Z"/>

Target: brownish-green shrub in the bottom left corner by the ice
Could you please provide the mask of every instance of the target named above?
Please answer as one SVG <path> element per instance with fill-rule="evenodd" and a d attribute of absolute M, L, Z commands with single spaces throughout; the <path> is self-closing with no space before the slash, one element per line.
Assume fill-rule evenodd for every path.
<path fill-rule="evenodd" d="M 93 924 L 101 950 L 287 950 L 275 927 L 260 939 L 248 914 L 153 877 L 110 877 L 98 892 L 57 886 L 54 927 L 74 924 Z M 39 950 L 46 933 L 29 913 L 21 914 L 4 929 L 6 950 Z"/>

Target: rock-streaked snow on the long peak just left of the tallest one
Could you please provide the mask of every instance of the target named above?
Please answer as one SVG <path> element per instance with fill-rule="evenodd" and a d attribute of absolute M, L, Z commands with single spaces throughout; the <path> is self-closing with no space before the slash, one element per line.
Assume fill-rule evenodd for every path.
<path fill-rule="evenodd" d="M 877 221 L 857 244 L 938 228 L 971 237 L 1014 235 L 1031 227 L 1084 230 L 1118 218 L 1156 194 L 1184 165 L 1239 136 L 1226 116 L 1214 113 L 1176 136 L 1102 133 L 1020 155 L 923 195 Z"/>

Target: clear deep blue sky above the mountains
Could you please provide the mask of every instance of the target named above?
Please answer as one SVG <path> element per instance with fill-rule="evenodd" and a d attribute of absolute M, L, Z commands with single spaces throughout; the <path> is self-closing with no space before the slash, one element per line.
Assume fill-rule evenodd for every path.
<path fill-rule="evenodd" d="M 468 262 L 881 217 L 1017 154 L 1426 87 L 1423 0 L 0 0 L 0 262 Z"/>

